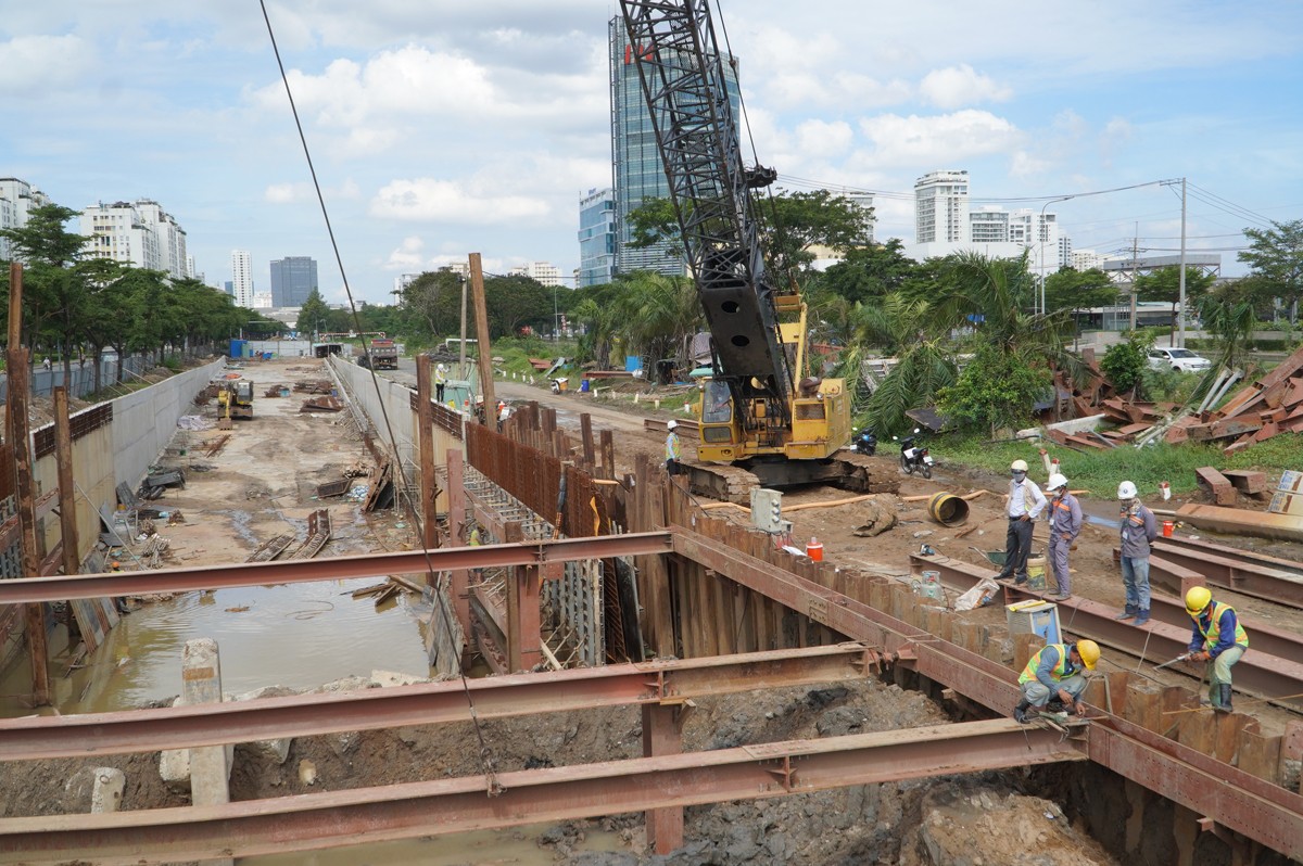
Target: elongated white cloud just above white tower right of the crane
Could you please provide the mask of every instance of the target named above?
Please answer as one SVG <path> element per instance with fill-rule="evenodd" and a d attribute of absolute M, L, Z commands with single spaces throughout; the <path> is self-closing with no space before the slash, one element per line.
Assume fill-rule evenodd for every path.
<path fill-rule="evenodd" d="M 860 132 L 873 143 L 872 159 L 894 165 L 958 165 L 971 156 L 1011 150 L 1023 138 L 1003 117 L 971 108 L 925 117 L 865 117 Z"/>

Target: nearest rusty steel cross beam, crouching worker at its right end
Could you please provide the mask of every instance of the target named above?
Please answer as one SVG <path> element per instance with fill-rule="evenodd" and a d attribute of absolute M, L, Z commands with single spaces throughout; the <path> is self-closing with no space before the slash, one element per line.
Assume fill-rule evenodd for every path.
<path fill-rule="evenodd" d="M 1062 761 L 1084 744 L 1007 719 L 192 806 L 0 819 L 22 862 L 250 857 Z"/>

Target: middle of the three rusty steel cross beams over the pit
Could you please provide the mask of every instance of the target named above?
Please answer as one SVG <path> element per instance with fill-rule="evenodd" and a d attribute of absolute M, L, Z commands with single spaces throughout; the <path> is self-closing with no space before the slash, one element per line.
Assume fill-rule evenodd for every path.
<path fill-rule="evenodd" d="M 709 659 L 611 664 L 533 675 L 216 705 L 0 720 L 5 761 L 189 749 L 278 737 L 500 719 L 711 694 L 863 680 L 880 655 L 863 643 Z M 474 702 L 472 712 L 466 691 Z"/>

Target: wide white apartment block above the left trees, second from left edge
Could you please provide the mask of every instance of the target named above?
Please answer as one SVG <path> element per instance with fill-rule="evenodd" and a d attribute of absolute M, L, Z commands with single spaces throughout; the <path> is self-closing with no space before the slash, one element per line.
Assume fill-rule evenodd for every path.
<path fill-rule="evenodd" d="M 86 255 L 163 271 L 175 280 L 190 276 L 185 229 L 152 199 L 91 204 L 82 211 L 81 233 L 90 238 Z"/>

